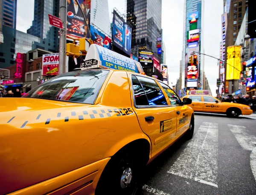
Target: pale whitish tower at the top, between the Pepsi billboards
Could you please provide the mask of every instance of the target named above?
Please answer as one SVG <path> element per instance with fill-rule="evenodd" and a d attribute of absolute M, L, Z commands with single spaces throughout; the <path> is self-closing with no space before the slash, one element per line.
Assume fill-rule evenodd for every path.
<path fill-rule="evenodd" d="M 90 13 L 90 23 L 110 35 L 108 0 L 92 0 Z"/>

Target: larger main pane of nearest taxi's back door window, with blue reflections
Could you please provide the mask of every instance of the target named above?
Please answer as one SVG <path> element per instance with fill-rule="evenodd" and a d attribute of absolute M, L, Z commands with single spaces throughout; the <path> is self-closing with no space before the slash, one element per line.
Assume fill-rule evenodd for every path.
<path fill-rule="evenodd" d="M 162 90 L 153 79 L 148 79 L 142 76 L 137 76 L 137 78 L 145 90 L 148 98 L 148 104 L 150 106 L 167 105 L 167 101 Z"/>

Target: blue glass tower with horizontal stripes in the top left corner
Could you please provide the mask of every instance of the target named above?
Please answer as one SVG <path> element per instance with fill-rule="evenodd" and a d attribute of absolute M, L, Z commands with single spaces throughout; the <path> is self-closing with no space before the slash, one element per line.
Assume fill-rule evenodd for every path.
<path fill-rule="evenodd" d="M 17 0 L 3 0 L 3 25 L 16 28 L 16 13 Z"/>

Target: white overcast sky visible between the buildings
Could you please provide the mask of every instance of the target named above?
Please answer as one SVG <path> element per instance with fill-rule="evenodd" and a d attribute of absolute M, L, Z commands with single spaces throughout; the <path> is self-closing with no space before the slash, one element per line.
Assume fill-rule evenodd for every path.
<path fill-rule="evenodd" d="M 17 0 L 17 30 L 26 32 L 32 25 L 34 17 L 34 1 Z M 221 42 L 221 14 L 223 0 L 204 1 L 204 53 L 219 57 Z M 108 0 L 111 10 L 116 7 L 122 14 L 125 12 L 125 0 Z M 182 57 L 184 0 L 162 0 L 163 41 L 166 45 L 166 64 L 169 72 L 169 85 L 176 84 L 179 78 L 179 66 Z M 201 50 L 203 51 L 203 50 Z M 217 60 L 205 57 L 204 70 L 212 93 L 215 95 L 218 77 Z"/>

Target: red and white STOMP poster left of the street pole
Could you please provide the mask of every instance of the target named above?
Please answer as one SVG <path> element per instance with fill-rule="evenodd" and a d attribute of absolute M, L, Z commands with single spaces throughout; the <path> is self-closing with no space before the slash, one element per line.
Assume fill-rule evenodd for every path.
<path fill-rule="evenodd" d="M 43 76 L 58 75 L 59 53 L 43 55 Z"/>

